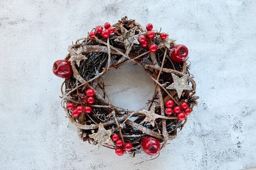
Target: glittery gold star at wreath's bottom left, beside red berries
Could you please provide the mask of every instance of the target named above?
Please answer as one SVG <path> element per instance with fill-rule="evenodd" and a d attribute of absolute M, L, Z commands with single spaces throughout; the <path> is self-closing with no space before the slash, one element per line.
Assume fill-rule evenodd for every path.
<path fill-rule="evenodd" d="M 112 135 L 113 130 L 106 130 L 103 126 L 103 124 L 99 123 L 99 130 L 97 133 L 93 133 L 91 135 L 89 135 L 89 137 L 98 140 L 98 149 L 103 146 L 103 144 L 108 143 L 110 145 L 115 145 L 112 141 L 112 139 L 110 138 L 110 136 Z"/>

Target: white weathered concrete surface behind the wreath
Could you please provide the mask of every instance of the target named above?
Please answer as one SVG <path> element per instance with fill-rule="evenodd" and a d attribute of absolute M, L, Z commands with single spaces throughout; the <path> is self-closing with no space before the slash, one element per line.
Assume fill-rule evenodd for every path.
<path fill-rule="evenodd" d="M 256 166 L 255 9 L 254 0 L 1 0 L 0 170 L 238 170 Z M 182 132 L 159 158 L 138 165 L 150 157 L 140 154 L 131 159 L 118 157 L 113 150 L 98 151 L 67 128 L 59 98 L 63 80 L 52 74 L 53 62 L 65 57 L 72 41 L 124 15 L 143 25 L 151 22 L 158 30 L 162 27 L 177 43 L 186 44 L 201 97 Z M 150 86 L 126 84 L 127 72 L 122 73 L 121 87 L 109 90 L 119 96 L 113 97 L 115 104 L 143 106 Z M 137 92 L 130 89 L 132 95 L 126 98 L 115 93 L 125 94 L 128 88 Z M 139 102 L 132 102 L 134 96 Z"/>

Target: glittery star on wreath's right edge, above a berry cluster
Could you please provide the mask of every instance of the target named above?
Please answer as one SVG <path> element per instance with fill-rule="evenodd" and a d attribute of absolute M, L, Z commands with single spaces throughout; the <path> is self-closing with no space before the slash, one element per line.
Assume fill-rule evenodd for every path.
<path fill-rule="evenodd" d="M 187 79 L 189 78 L 189 74 L 184 75 L 183 77 L 178 77 L 177 75 L 171 73 L 173 76 L 173 84 L 166 87 L 167 89 L 175 89 L 178 93 L 178 97 L 182 95 L 184 90 L 192 90 L 192 87 L 187 84 Z"/>

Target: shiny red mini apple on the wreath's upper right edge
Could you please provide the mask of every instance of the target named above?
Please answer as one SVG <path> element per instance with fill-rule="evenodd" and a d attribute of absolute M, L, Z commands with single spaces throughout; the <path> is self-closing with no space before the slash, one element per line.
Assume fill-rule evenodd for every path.
<path fill-rule="evenodd" d="M 169 57 L 173 62 L 181 63 L 186 61 L 189 50 L 182 44 L 176 44 L 169 52 Z"/>

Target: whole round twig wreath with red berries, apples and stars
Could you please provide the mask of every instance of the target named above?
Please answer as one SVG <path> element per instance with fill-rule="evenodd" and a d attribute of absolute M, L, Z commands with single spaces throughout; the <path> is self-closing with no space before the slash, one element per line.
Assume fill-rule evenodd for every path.
<path fill-rule="evenodd" d="M 80 139 L 130 157 L 141 150 L 156 155 L 175 139 L 198 97 L 186 64 L 188 49 L 174 42 L 153 30 L 152 24 L 145 29 L 124 17 L 113 25 L 105 23 L 104 29 L 97 26 L 69 46 L 65 60 L 57 60 L 53 72 L 65 78 L 62 106 Z M 144 68 L 155 84 L 152 99 L 139 110 L 114 106 L 105 91 L 108 71 L 129 62 Z"/>

